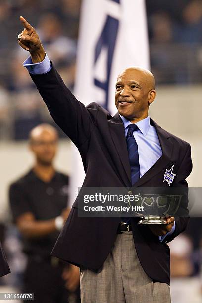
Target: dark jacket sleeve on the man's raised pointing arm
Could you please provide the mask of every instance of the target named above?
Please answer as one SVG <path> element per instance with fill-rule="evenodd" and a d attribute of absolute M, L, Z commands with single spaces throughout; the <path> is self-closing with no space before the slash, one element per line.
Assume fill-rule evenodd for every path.
<path fill-rule="evenodd" d="M 52 62 L 51 66 L 45 74 L 30 73 L 30 76 L 55 123 L 79 147 L 90 137 L 93 127 L 91 116 L 84 104 L 65 86 Z"/>

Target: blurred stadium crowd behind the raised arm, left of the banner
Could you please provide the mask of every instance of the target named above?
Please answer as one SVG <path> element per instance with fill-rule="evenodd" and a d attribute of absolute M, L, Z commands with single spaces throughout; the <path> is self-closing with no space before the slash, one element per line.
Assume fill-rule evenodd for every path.
<path fill-rule="evenodd" d="M 37 28 L 49 57 L 73 87 L 79 8 L 79 0 L 0 2 L 0 138 L 26 139 L 33 126 L 50 119 L 22 66 L 29 54 L 17 43 L 19 16 Z"/>

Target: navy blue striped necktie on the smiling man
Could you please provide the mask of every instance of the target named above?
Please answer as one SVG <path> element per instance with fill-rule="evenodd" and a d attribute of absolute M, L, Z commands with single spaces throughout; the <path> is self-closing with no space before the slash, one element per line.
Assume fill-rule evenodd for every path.
<path fill-rule="evenodd" d="M 138 155 L 138 145 L 133 136 L 133 132 L 137 131 L 139 128 L 136 124 L 129 124 L 128 132 L 126 136 L 126 143 L 128 148 L 128 156 L 131 168 L 131 184 L 134 185 L 140 179 L 140 163 Z M 130 217 L 121 217 L 121 219 L 129 223 Z"/>

